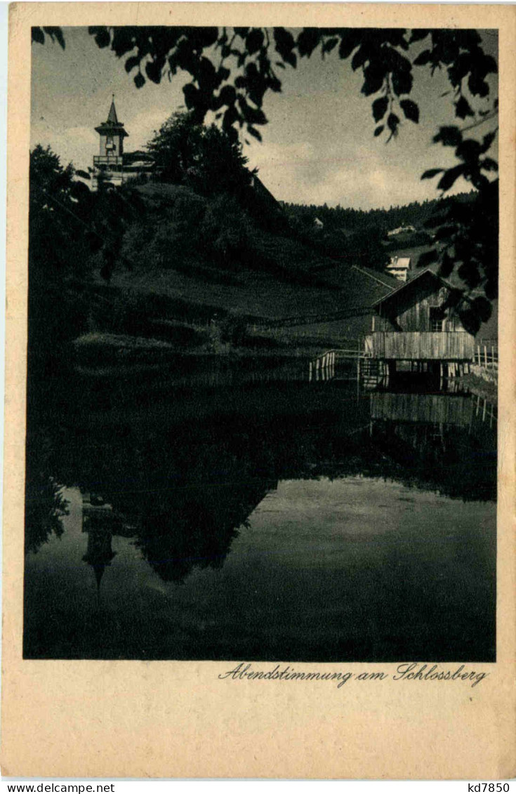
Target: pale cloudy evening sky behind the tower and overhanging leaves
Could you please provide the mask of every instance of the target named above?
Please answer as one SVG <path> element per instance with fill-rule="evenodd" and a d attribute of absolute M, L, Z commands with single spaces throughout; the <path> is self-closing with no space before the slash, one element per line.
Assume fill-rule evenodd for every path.
<path fill-rule="evenodd" d="M 33 44 L 31 148 L 50 145 L 64 164 L 86 169 L 98 154 L 94 128 L 106 120 L 112 94 L 129 133 L 125 151 L 144 148 L 154 130 L 183 107 L 190 75 L 179 73 L 171 82 L 165 77 L 159 86 L 147 81 L 137 89 L 124 60 L 99 49 L 87 29 L 66 28 L 64 37 L 64 51 L 49 40 Z M 484 33 L 483 43 L 496 56 L 496 34 Z M 444 74 L 414 69 L 411 98 L 418 102 L 420 123 L 403 121 L 399 136 L 386 144 L 385 136 L 373 136 L 372 98 L 360 94 L 361 71 L 353 72 L 337 52 L 277 71 L 283 91 L 265 96 L 263 142 L 244 146 L 249 166 L 259 169 L 275 198 L 367 210 L 439 195 L 437 180 L 422 181 L 421 174 L 455 164 L 452 151 L 432 143 L 439 125 L 456 123 L 451 96 L 442 96 L 449 89 Z M 488 129 L 483 125 L 479 134 Z M 469 189 L 458 180 L 454 191 Z"/>

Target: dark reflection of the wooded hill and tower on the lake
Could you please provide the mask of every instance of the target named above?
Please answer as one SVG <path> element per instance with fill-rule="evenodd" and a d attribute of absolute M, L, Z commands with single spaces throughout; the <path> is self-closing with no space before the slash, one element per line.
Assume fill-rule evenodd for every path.
<path fill-rule="evenodd" d="M 78 485 L 113 506 L 109 521 L 89 511 L 84 524 L 83 559 L 98 584 L 114 558 L 115 534 L 135 538 L 160 578 L 179 582 L 196 568 L 224 564 L 239 529 L 280 479 L 383 477 L 452 498 L 495 499 L 495 464 L 495 428 L 372 421 L 368 399 L 347 403 L 345 415 L 336 401 L 335 410 L 267 419 L 212 416 L 87 432 L 78 425 L 28 445 L 25 545 L 35 551 L 62 534 L 67 511 L 58 483 Z"/>

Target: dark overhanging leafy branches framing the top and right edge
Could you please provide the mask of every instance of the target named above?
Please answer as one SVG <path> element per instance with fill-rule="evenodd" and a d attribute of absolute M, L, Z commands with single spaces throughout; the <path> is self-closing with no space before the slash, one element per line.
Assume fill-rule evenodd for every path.
<path fill-rule="evenodd" d="M 490 310 L 489 300 L 497 294 L 498 165 L 487 154 L 496 131 L 481 142 L 467 133 L 498 114 L 498 98 L 490 96 L 488 82 L 498 69 L 476 30 L 303 28 L 293 33 L 286 28 L 95 26 L 89 32 L 98 47 L 109 47 L 125 60 L 137 88 L 147 79 L 160 83 L 179 70 L 190 74 L 183 93 L 192 118 L 201 123 L 213 111 L 234 141 L 239 131 L 261 140 L 257 128 L 267 123 L 264 97 L 268 91 L 281 91 L 279 70 L 295 68 L 298 59 L 314 53 L 325 58 L 337 52 L 353 71 L 362 71 L 361 92 L 372 98 L 374 134 L 388 141 L 397 136 L 402 118 L 419 121 L 418 104 L 410 98 L 418 72 L 445 71 L 458 122 L 438 129 L 433 141 L 452 146 L 459 162 L 453 168 L 431 169 L 423 178 L 438 175 L 437 189 L 443 194 L 459 176 L 476 189 L 476 206 L 468 217 L 464 212 L 458 218 L 454 211 L 441 214 L 434 227 L 433 256 L 442 272 L 455 268 L 464 282 L 456 295 L 456 310 L 469 330 L 478 330 Z M 33 28 L 33 40 L 43 43 L 45 36 L 65 46 L 60 29 Z M 465 120 L 468 124 L 460 129 L 458 124 Z M 472 220 L 481 214 L 487 235 Z M 472 301 L 472 291 L 479 290 L 487 298 L 481 305 Z"/>

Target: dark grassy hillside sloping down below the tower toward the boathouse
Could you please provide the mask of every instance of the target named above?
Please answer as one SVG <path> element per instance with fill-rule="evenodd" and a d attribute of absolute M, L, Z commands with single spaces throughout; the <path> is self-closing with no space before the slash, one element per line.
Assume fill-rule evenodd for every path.
<path fill-rule="evenodd" d="M 388 276 L 347 264 L 335 268 L 287 227 L 267 229 L 232 199 L 210 200 L 160 183 L 137 191 L 142 217 L 125 233 L 124 264 L 115 268 L 110 290 L 129 304 L 148 300 L 155 321 L 206 325 L 230 317 L 258 330 L 281 326 L 285 318 L 328 319 L 341 337 L 335 315 L 364 314 L 395 286 Z M 304 340 L 306 333 L 299 336 Z"/>

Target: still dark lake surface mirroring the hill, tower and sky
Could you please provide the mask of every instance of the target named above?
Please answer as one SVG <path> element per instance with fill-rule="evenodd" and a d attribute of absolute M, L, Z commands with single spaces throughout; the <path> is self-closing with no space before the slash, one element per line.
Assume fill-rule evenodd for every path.
<path fill-rule="evenodd" d="M 322 382 L 94 409 L 28 438 L 25 657 L 494 659 L 476 398 Z"/>

